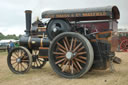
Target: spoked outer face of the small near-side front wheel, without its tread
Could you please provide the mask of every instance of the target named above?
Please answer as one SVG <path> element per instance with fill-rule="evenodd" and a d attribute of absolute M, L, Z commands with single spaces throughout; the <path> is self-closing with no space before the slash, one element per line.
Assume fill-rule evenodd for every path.
<path fill-rule="evenodd" d="M 21 48 L 12 50 L 9 57 L 9 64 L 13 71 L 16 73 L 24 73 L 28 70 L 29 66 L 29 55 Z"/>

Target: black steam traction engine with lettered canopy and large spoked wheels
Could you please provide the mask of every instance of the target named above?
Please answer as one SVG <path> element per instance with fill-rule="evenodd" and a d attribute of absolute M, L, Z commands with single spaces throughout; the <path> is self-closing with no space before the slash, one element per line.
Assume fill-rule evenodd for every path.
<path fill-rule="evenodd" d="M 26 34 L 20 47 L 8 55 L 8 66 L 21 74 L 41 68 L 47 61 L 60 76 L 77 78 L 91 68 L 107 69 L 118 46 L 116 6 L 99 8 L 50 10 L 31 24 L 31 11 L 26 14 Z"/>

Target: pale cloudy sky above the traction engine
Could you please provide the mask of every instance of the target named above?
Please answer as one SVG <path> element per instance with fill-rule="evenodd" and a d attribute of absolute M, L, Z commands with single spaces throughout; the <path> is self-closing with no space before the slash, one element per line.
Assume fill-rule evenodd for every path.
<path fill-rule="evenodd" d="M 128 28 L 128 0 L 0 0 L 0 32 L 25 34 L 25 10 L 32 10 L 32 21 L 45 10 L 75 9 L 116 5 L 120 11 L 119 28 Z"/>

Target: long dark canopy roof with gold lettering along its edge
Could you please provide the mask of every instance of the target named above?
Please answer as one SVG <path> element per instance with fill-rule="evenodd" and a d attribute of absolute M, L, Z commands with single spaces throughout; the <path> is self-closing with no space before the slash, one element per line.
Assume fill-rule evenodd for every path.
<path fill-rule="evenodd" d="M 49 10 L 42 13 L 42 18 L 68 18 L 69 20 L 105 20 L 119 19 L 120 13 L 116 6 L 97 8 Z"/>

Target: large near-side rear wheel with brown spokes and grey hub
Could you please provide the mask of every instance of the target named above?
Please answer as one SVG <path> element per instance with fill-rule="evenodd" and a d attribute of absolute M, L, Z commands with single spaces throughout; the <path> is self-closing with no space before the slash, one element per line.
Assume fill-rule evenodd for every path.
<path fill-rule="evenodd" d="M 78 78 L 91 68 L 94 52 L 85 36 L 64 32 L 51 42 L 48 58 L 52 69 L 58 75 L 65 78 Z"/>

